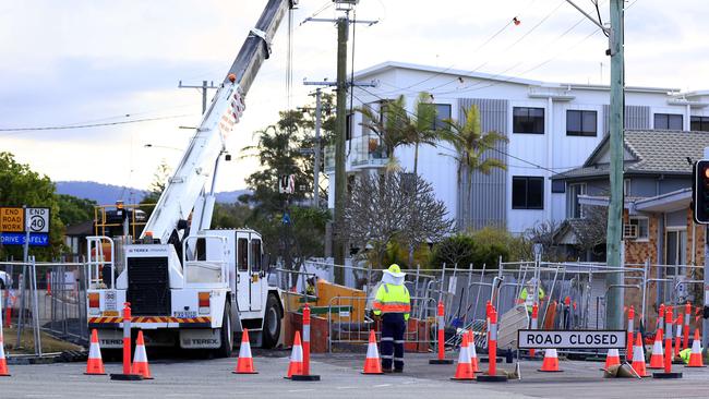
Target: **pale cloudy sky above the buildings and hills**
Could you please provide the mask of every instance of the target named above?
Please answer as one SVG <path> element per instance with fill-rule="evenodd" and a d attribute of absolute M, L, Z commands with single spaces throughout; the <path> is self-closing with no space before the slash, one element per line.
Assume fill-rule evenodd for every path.
<path fill-rule="evenodd" d="M 590 0 L 576 0 L 596 13 Z M 175 166 L 200 122 L 201 94 L 178 82 L 221 82 L 265 0 L 23 0 L 0 2 L 0 152 L 55 181 L 146 189 Z M 609 0 L 599 0 L 608 21 Z M 705 0 L 626 1 L 626 84 L 709 89 Z M 218 191 L 244 189 L 259 168 L 242 157 L 278 111 L 310 104 L 303 80 L 334 80 L 336 29 L 308 16 L 338 15 L 327 0 L 292 13 L 287 95 L 284 21 L 235 128 Z M 513 17 L 521 21 L 515 26 Z M 564 0 L 362 0 L 350 36 L 354 70 L 385 61 L 478 70 L 548 82 L 608 84 L 606 38 Z M 350 65 L 351 68 L 351 65 Z M 425 89 L 421 86 L 417 89 Z M 214 94 L 209 92 L 209 98 Z M 137 123 L 123 123 L 147 120 Z M 16 128 L 118 123 L 69 130 Z M 146 147 L 146 145 L 152 145 Z"/>

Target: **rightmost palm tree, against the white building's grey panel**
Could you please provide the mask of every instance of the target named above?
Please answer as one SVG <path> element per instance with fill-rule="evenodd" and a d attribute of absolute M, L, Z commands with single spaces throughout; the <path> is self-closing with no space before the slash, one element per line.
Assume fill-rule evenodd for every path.
<path fill-rule="evenodd" d="M 480 109 L 477 106 L 462 110 L 465 121 L 462 123 L 447 119 L 444 121 L 445 128 L 440 132 L 441 138 L 453 146 L 454 154 L 443 154 L 454 158 L 458 162 L 458 190 L 461 193 L 461 214 L 462 220 L 458 220 L 458 228 L 466 227 L 465 215 L 469 214 L 472 198 L 472 184 L 470 178 L 474 171 L 490 174 L 493 169 L 507 169 L 502 159 L 488 157 L 483 155 L 491 148 L 494 148 L 498 142 L 507 142 L 507 137 L 501 133 L 490 131 L 482 132 L 480 126 Z M 466 179 L 464 183 L 464 177 Z"/>

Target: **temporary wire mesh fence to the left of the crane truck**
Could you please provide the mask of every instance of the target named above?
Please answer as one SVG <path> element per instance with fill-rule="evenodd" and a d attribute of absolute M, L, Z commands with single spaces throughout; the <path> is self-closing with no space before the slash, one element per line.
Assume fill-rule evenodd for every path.
<path fill-rule="evenodd" d="M 55 348 L 43 334 L 79 344 L 88 341 L 86 325 L 86 265 L 83 263 L 0 262 L 12 282 L 2 292 L 5 341 L 35 355 Z M 32 335 L 28 332 L 32 331 Z M 10 334 L 8 334 L 10 332 Z M 33 350 L 34 349 L 34 350 Z"/>

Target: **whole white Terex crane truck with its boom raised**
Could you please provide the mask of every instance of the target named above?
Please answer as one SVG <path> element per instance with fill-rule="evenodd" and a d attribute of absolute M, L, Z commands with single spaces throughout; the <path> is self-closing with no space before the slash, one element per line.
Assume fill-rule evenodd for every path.
<path fill-rule="evenodd" d="M 146 346 L 207 349 L 229 356 L 235 334 L 275 347 L 284 306 L 266 278 L 262 238 L 250 229 L 211 229 L 225 141 L 239 122 L 271 40 L 297 0 L 268 0 L 211 106 L 202 116 L 141 237 L 87 238 L 87 322 L 101 347 L 121 348 L 121 311 Z"/>

